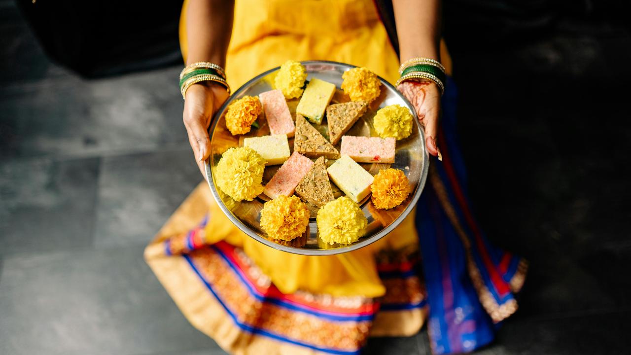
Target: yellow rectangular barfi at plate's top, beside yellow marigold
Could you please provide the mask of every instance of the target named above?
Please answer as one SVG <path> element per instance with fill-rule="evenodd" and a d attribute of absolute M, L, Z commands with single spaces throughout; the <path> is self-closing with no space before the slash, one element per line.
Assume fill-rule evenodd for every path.
<path fill-rule="evenodd" d="M 324 111 L 335 93 L 335 85 L 318 78 L 312 78 L 298 102 L 296 113 L 312 123 L 321 124 Z"/>

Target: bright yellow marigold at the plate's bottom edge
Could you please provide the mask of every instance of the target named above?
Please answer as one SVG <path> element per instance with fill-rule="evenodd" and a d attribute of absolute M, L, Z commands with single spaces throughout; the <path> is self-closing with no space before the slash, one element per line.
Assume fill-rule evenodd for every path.
<path fill-rule="evenodd" d="M 366 231 L 368 220 L 357 203 L 342 196 L 320 208 L 315 218 L 324 243 L 355 243 Z"/>

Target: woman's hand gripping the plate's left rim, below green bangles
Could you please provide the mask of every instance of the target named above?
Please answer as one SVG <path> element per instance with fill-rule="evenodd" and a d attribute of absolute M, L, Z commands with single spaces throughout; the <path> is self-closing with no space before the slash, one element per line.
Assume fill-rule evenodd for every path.
<path fill-rule="evenodd" d="M 213 114 L 228 99 L 226 88 L 218 83 L 206 81 L 191 85 L 184 101 L 184 126 L 189 135 L 189 143 L 202 176 L 206 176 L 204 161 L 210 154 L 208 126 Z"/>

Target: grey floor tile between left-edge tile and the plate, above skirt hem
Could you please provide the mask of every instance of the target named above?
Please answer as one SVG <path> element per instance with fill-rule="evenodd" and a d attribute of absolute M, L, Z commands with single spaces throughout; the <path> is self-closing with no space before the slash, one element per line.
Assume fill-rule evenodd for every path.
<path fill-rule="evenodd" d="M 103 158 L 95 245 L 148 243 L 202 180 L 190 148 Z"/>

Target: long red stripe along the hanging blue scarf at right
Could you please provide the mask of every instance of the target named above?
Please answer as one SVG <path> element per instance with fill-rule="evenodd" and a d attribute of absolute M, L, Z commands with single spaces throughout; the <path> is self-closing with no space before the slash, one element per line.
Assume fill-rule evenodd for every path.
<path fill-rule="evenodd" d="M 445 142 L 445 136 L 442 129 L 439 129 L 439 139 L 441 143 Z M 498 294 L 500 294 L 500 297 L 504 297 L 506 294 L 510 292 L 510 288 L 506 284 L 504 279 L 502 279 L 500 274 L 498 274 L 497 269 L 495 268 L 495 265 L 493 265 L 493 262 L 490 256 L 488 255 L 487 248 L 485 247 L 482 241 L 480 228 L 476 224 L 475 219 L 473 219 L 473 215 L 471 214 L 468 204 L 466 203 L 466 199 L 464 198 L 463 190 L 460 188 L 460 184 L 458 183 L 458 179 L 456 178 L 456 172 L 454 171 L 454 167 L 451 165 L 451 160 L 449 159 L 449 149 L 447 149 L 446 144 L 441 144 L 441 145 L 442 147 L 445 148 L 444 152 L 442 152 L 442 157 L 443 157 L 442 164 L 445 167 L 445 172 L 447 173 L 449 182 L 451 183 L 451 186 L 454 190 L 454 195 L 456 195 L 456 200 L 458 201 L 460 208 L 463 210 L 464 218 L 466 219 L 467 224 L 469 224 L 469 228 L 471 228 L 471 231 L 473 231 L 476 245 L 478 246 L 478 250 L 480 250 L 482 262 L 484 263 L 485 267 L 488 270 L 488 274 L 490 275 L 491 282 L 493 283 L 493 286 L 495 286 L 495 289 L 497 290 Z"/>

